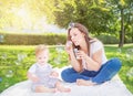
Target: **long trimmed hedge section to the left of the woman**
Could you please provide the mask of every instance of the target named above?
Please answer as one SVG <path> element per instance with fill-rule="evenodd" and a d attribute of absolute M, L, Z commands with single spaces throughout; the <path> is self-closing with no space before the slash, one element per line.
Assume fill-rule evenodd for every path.
<path fill-rule="evenodd" d="M 4 40 L 1 44 L 4 45 L 37 45 L 37 44 L 64 44 L 66 40 L 65 34 L 3 34 Z"/>

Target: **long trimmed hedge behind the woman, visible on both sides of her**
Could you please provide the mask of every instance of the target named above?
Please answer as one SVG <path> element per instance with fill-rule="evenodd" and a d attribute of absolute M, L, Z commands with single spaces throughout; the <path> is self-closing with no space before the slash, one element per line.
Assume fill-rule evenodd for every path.
<path fill-rule="evenodd" d="M 2 39 L 3 38 L 3 39 Z M 119 39 L 111 34 L 93 35 L 104 44 L 119 44 Z M 37 45 L 37 44 L 65 44 L 66 34 L 45 33 L 45 34 L 12 34 L 0 33 L 0 44 L 2 45 Z M 125 38 L 125 43 L 132 43 L 131 38 Z"/>

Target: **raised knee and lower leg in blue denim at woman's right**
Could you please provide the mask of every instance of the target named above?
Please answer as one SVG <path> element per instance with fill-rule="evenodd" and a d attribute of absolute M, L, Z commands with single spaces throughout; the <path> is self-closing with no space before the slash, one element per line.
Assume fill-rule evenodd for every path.
<path fill-rule="evenodd" d="M 111 79 L 121 68 L 121 61 L 119 58 L 111 58 L 101 68 L 100 73 L 92 79 L 100 84 Z"/>

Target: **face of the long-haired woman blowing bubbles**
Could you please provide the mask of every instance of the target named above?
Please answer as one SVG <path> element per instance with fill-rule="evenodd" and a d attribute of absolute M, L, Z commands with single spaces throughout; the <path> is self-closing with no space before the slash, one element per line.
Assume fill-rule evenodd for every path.
<path fill-rule="evenodd" d="M 84 34 L 79 29 L 73 28 L 70 31 L 70 38 L 74 45 L 80 45 L 84 40 Z"/>

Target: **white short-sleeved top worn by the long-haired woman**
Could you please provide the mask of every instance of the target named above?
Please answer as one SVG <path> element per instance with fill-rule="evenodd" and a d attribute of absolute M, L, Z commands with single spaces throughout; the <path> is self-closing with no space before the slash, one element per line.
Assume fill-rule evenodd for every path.
<path fill-rule="evenodd" d="M 106 55 L 104 53 L 104 46 L 103 46 L 102 42 L 100 42 L 99 40 L 96 40 L 96 41 L 92 40 L 90 42 L 92 42 L 90 44 L 90 57 L 92 57 L 93 54 L 95 52 L 98 52 L 99 50 L 102 50 L 102 65 L 105 64 L 108 62 L 108 58 L 106 58 Z M 85 61 L 84 60 L 82 60 L 82 64 L 83 64 L 83 68 L 86 70 L 86 65 L 85 65 Z"/>

